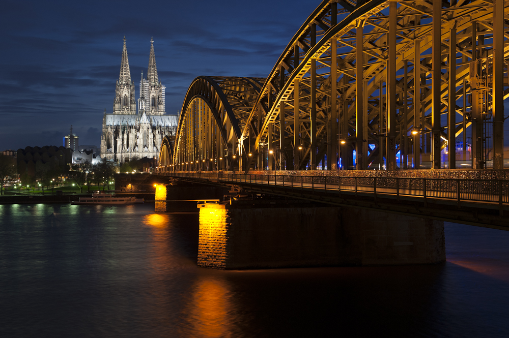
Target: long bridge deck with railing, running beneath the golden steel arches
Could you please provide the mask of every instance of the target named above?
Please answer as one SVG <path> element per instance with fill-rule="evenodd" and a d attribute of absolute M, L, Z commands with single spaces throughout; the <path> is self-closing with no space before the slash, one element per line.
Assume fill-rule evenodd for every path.
<path fill-rule="evenodd" d="M 509 224 L 503 217 L 504 210 L 509 209 L 507 180 L 287 176 L 221 172 L 160 174 L 207 184 L 239 185 L 252 192 L 509 229 Z"/>

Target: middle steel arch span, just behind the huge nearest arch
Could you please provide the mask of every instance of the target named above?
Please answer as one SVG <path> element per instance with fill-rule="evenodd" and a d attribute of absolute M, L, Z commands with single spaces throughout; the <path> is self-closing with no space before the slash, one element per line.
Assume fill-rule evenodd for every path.
<path fill-rule="evenodd" d="M 200 76 L 179 117 L 172 170 L 235 170 L 247 159 L 241 131 L 265 78 Z"/>

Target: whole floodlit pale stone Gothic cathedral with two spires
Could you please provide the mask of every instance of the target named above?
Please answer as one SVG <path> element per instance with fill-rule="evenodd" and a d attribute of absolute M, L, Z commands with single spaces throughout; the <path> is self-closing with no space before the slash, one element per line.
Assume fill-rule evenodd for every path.
<path fill-rule="evenodd" d="M 142 73 L 136 105 L 124 37 L 113 112 L 108 114 L 104 110 L 102 120 L 101 158 L 120 163 L 144 157 L 159 158 L 162 139 L 175 135 L 178 125 L 178 115 L 166 115 L 165 88 L 157 76 L 154 40 L 151 39 L 147 78 Z"/>

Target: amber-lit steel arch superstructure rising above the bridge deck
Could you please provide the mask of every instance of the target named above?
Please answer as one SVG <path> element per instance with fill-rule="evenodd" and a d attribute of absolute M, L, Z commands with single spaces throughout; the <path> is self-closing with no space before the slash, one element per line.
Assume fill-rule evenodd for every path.
<path fill-rule="evenodd" d="M 325 0 L 267 78 L 191 83 L 169 168 L 502 169 L 506 6 Z"/>

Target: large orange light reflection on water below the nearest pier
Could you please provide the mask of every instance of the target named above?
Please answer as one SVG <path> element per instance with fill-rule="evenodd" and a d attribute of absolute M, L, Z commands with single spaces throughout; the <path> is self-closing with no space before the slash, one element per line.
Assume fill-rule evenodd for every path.
<path fill-rule="evenodd" d="M 203 277 L 192 289 L 191 301 L 184 311 L 192 332 L 185 335 L 203 337 L 232 337 L 235 329 L 235 304 L 231 300 L 229 284 L 224 280 Z"/>

